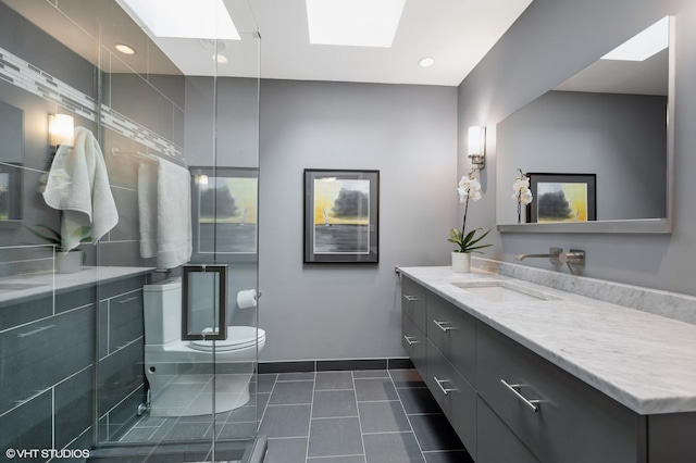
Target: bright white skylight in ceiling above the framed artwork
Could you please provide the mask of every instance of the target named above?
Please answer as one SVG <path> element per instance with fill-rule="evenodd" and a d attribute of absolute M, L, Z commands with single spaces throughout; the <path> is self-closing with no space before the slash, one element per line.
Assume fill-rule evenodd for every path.
<path fill-rule="evenodd" d="M 389 48 L 406 0 L 307 0 L 309 41 Z"/>

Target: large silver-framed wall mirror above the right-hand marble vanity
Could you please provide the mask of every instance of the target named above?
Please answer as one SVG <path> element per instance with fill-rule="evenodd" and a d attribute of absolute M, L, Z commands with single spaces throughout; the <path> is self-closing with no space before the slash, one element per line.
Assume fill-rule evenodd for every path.
<path fill-rule="evenodd" d="M 498 124 L 499 232 L 671 232 L 673 40 L 668 16 Z M 636 41 L 635 51 L 625 51 Z M 511 199 L 518 168 L 540 178 L 520 221 Z M 558 180 L 587 176 L 594 180 L 581 189 L 584 203 L 571 198 L 577 185 Z M 562 216 L 530 213 L 559 195 Z M 583 214 L 583 207 L 594 215 Z"/>

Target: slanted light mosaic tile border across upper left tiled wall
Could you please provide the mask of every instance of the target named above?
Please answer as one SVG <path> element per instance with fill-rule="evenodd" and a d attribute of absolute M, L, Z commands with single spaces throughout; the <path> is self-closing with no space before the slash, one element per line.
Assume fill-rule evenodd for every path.
<path fill-rule="evenodd" d="M 94 98 L 3 48 L 0 48 L 0 78 L 89 121 L 98 120 Z M 160 154 L 185 161 L 181 147 L 105 104 L 101 105 L 101 124 Z"/>

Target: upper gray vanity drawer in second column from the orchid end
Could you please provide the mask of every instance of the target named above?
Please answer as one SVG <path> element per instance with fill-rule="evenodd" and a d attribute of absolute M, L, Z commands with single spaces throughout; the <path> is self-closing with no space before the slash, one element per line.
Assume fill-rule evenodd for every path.
<path fill-rule="evenodd" d="M 472 385 L 476 384 L 476 321 L 445 299 L 427 293 L 427 338 Z"/>

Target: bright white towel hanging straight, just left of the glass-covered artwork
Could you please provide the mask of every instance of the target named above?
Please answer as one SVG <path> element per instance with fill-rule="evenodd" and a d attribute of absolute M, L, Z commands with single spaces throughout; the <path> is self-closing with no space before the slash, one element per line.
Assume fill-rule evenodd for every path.
<path fill-rule="evenodd" d="M 157 265 L 173 268 L 191 256 L 191 187 L 187 168 L 160 159 L 157 176 Z"/>

